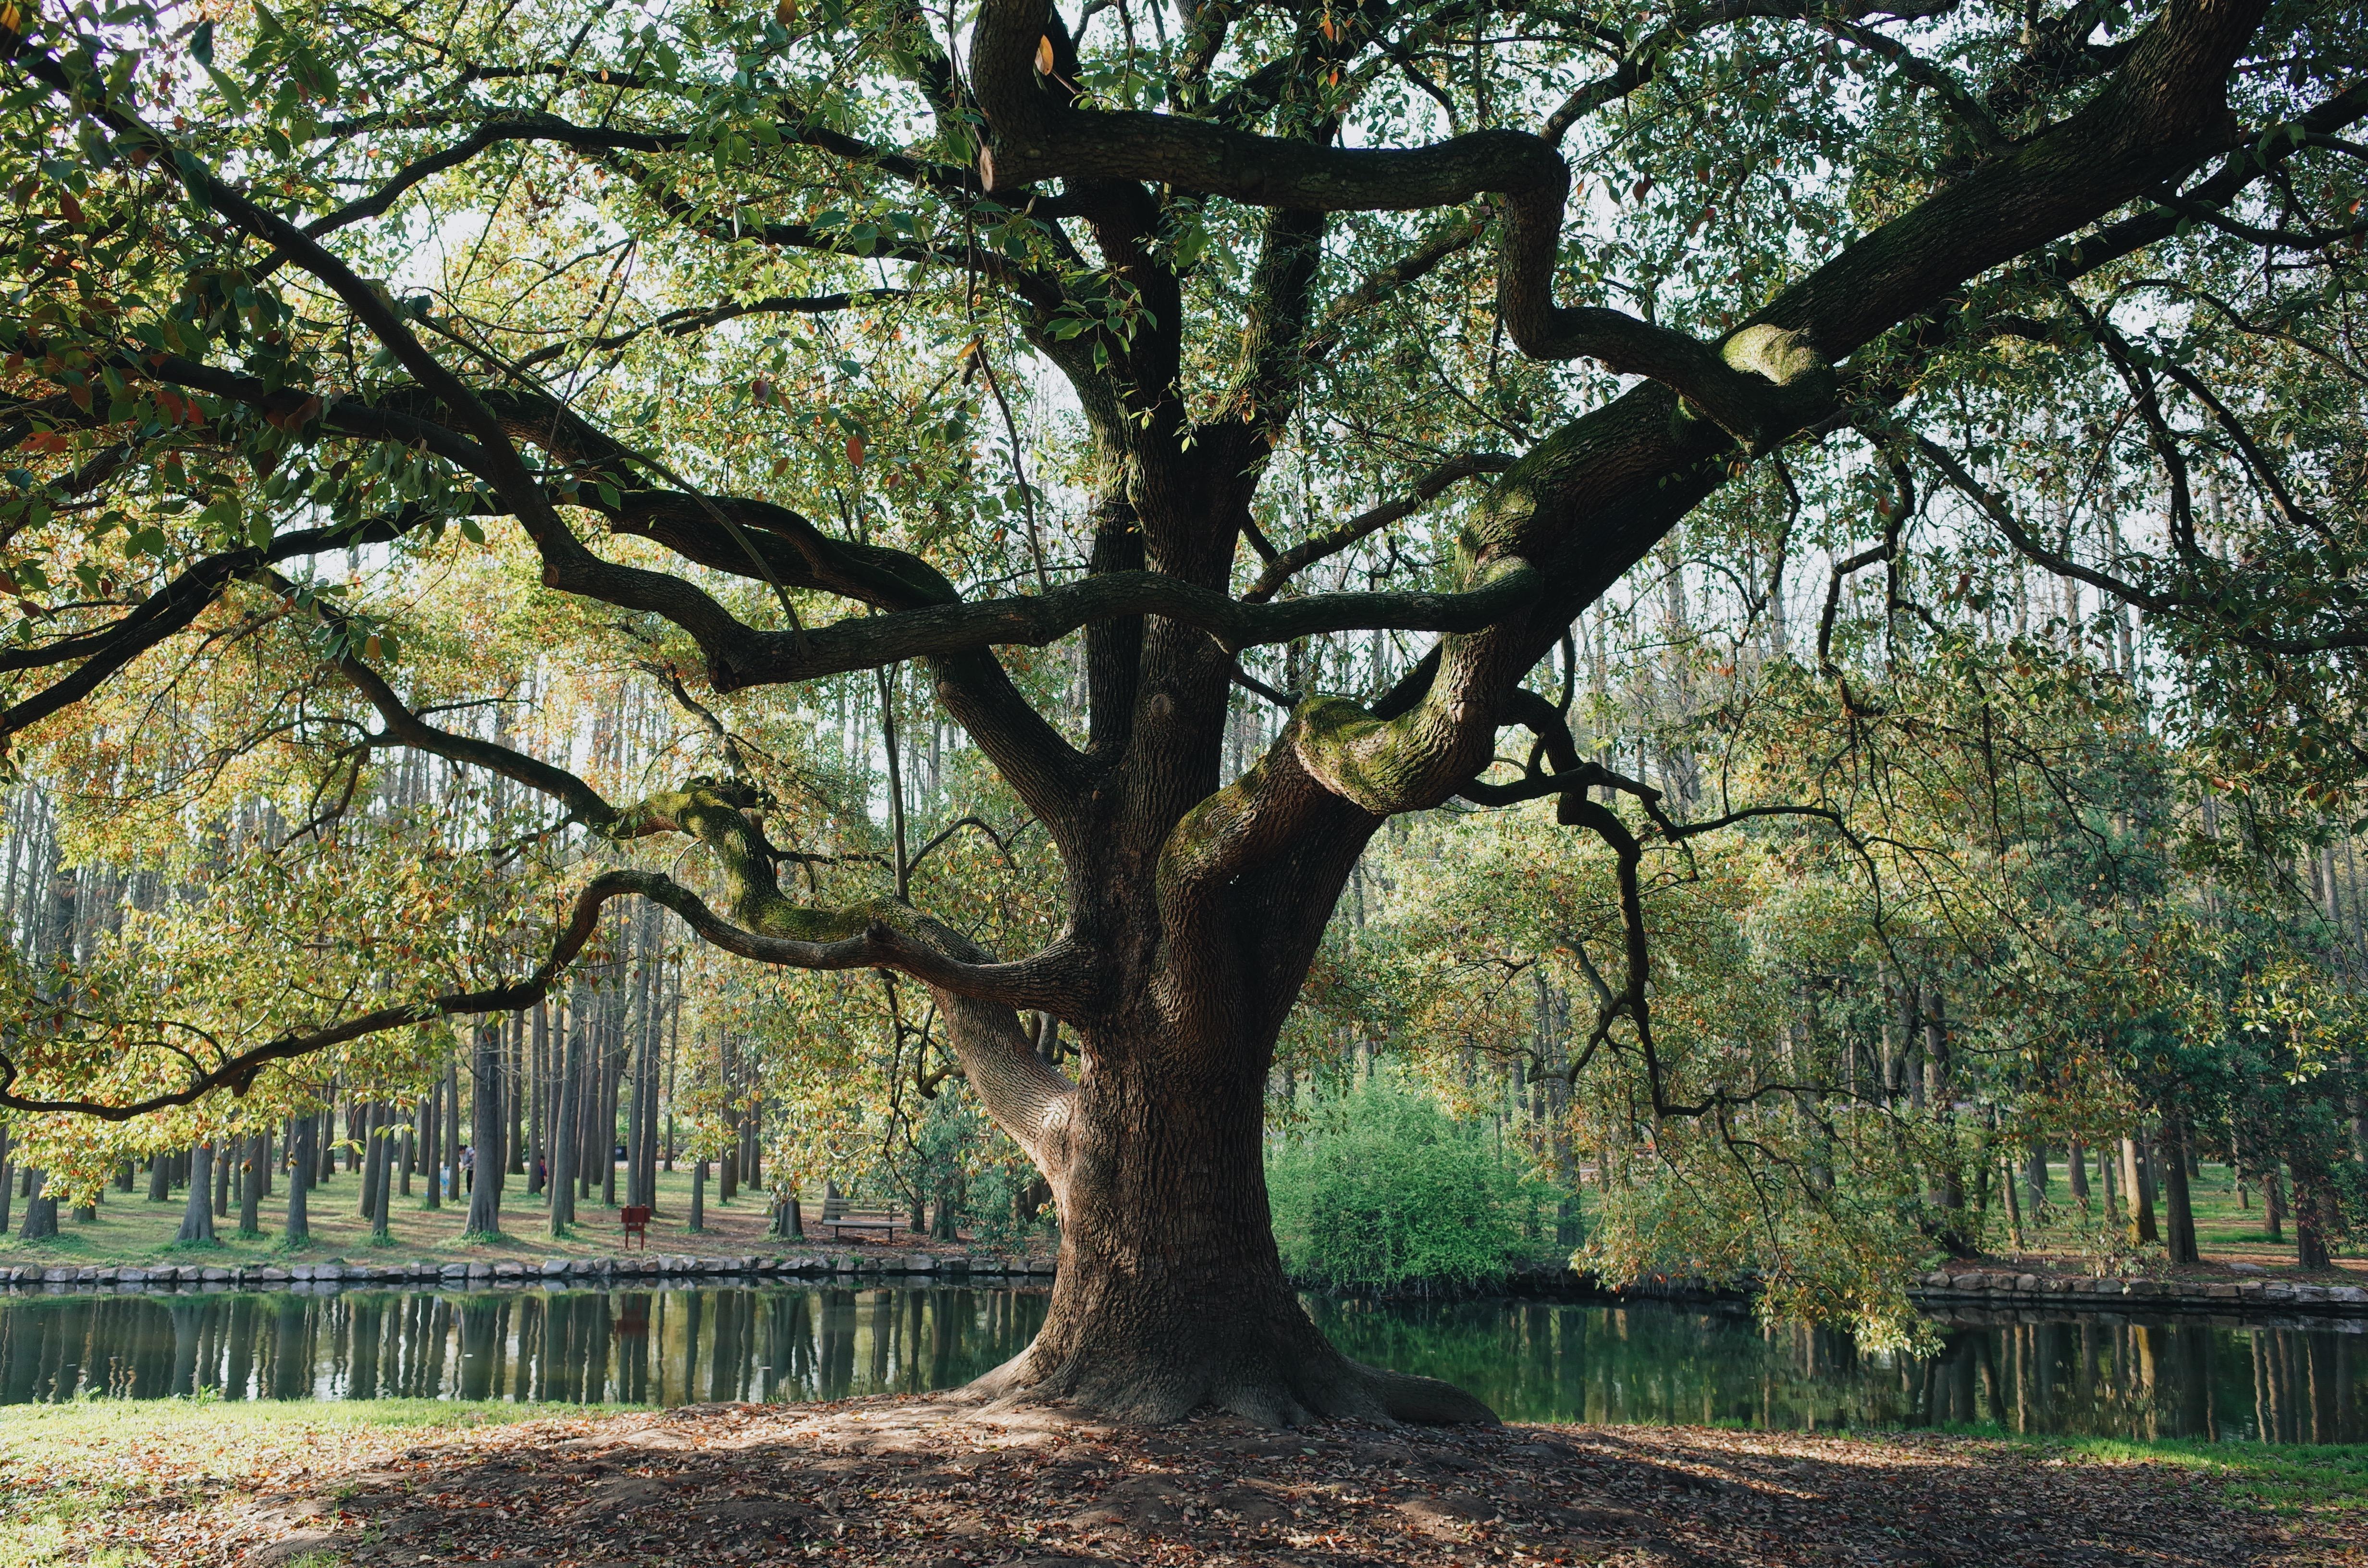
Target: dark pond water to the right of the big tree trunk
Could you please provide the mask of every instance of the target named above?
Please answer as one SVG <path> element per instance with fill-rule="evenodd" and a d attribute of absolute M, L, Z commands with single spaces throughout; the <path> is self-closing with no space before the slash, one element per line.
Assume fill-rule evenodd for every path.
<path fill-rule="evenodd" d="M 1944 1322 L 1932 1357 L 1748 1310 L 1639 1303 L 1312 1303 L 1364 1362 L 1449 1379 L 1504 1416 L 1755 1428 L 1999 1426 L 2091 1438 L 2368 1440 L 2359 1324 Z M 2008 1317 L 2008 1315 L 1996 1315 Z"/>

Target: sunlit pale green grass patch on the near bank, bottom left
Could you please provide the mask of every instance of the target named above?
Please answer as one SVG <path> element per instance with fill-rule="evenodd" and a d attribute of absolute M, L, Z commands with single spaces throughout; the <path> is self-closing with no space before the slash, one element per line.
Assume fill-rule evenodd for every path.
<path fill-rule="evenodd" d="M 322 1452 L 403 1435 L 443 1440 L 478 1426 L 587 1416 L 618 1405 L 459 1400 L 76 1400 L 0 1407 L 0 1568 L 130 1568 L 144 1551 L 92 1547 L 111 1518 L 201 1506 Z"/>

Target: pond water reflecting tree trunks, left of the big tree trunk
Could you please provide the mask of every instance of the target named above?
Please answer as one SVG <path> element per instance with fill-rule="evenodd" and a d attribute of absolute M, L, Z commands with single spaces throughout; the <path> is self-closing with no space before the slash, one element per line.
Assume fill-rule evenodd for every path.
<path fill-rule="evenodd" d="M 0 1402 L 843 1400 L 966 1383 L 1044 1322 L 1028 1291 L 346 1291 L 0 1305 Z"/>

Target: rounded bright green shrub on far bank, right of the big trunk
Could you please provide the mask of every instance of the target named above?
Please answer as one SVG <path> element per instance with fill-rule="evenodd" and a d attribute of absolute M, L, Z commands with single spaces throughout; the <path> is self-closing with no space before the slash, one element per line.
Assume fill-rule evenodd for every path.
<path fill-rule="evenodd" d="M 1267 1194 L 1283 1265 L 1331 1291 L 1501 1279 L 1539 1251 L 1553 1203 L 1485 1123 L 1392 1075 L 1319 1101 L 1269 1146 Z"/>

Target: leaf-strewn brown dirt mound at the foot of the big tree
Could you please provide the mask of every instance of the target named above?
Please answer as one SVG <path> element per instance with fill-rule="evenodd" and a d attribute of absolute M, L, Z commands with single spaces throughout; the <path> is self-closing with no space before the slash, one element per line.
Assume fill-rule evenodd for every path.
<path fill-rule="evenodd" d="M 1504 1426 L 1134 1431 L 935 1397 L 358 1440 L 107 1530 L 137 1561 L 1054 1568 L 2368 1563 L 2368 1516 L 1975 1438 Z"/>

